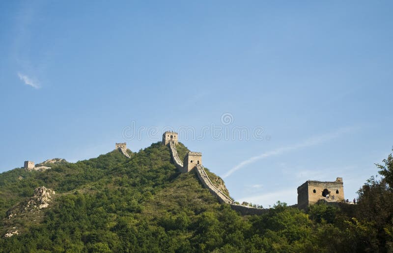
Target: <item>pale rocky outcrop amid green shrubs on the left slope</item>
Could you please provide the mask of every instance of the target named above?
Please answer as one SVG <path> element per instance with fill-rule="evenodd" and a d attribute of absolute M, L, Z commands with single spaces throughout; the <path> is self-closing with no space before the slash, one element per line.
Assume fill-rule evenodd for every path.
<path fill-rule="evenodd" d="M 45 186 L 35 188 L 33 197 L 30 197 L 28 201 L 18 204 L 7 212 L 8 219 L 47 208 L 54 198 L 54 195 L 55 191 L 47 189 Z"/>

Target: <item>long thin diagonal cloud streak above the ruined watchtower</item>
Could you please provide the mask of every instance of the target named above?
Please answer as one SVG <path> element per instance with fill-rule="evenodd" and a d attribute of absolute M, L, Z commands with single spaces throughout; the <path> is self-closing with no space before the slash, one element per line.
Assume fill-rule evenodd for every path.
<path fill-rule="evenodd" d="M 312 137 L 312 138 L 309 138 L 305 141 L 299 142 L 297 144 L 280 147 L 280 148 L 274 149 L 272 151 L 268 151 L 268 152 L 262 153 L 260 155 L 250 157 L 249 159 L 242 161 L 241 163 L 239 163 L 238 165 L 236 165 L 235 167 L 230 169 L 228 172 L 226 172 L 225 175 L 223 176 L 223 178 L 230 176 L 236 170 L 242 169 L 244 166 L 255 163 L 258 160 L 265 159 L 265 158 L 268 158 L 271 156 L 281 155 L 285 152 L 297 150 L 300 148 L 305 148 L 305 147 L 310 147 L 310 146 L 314 146 L 317 144 L 321 144 L 323 142 L 330 141 L 334 138 L 337 138 L 338 136 L 345 134 L 351 130 L 353 130 L 352 127 L 340 128 L 333 133 Z"/>

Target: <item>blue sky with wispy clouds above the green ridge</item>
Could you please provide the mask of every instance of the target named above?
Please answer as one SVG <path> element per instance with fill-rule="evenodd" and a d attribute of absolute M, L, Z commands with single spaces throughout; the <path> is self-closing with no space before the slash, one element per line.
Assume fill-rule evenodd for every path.
<path fill-rule="evenodd" d="M 392 5 L 2 1 L 0 171 L 171 127 L 236 200 L 294 204 L 338 176 L 353 199 L 393 145 Z"/>

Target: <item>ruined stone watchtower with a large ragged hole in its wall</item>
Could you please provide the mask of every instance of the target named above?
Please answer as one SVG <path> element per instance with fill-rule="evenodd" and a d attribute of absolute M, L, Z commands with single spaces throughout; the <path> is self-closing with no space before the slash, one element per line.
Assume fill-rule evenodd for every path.
<path fill-rule="evenodd" d="M 305 209 L 320 199 L 324 199 L 328 203 L 343 201 L 344 187 L 342 177 L 337 177 L 336 181 L 332 182 L 307 180 L 298 187 L 298 208 Z"/>

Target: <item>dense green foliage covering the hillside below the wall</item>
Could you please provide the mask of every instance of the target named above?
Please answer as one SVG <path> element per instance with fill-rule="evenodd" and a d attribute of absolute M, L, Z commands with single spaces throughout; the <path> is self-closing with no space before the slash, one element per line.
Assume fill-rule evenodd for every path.
<path fill-rule="evenodd" d="M 178 145 L 179 157 L 187 148 Z M 389 252 L 393 242 L 392 159 L 357 205 L 319 203 L 304 212 L 278 202 L 263 215 L 221 205 L 194 172 L 180 174 L 167 146 L 0 174 L 0 252 Z M 219 177 L 209 172 L 209 177 Z M 23 179 L 18 179 L 23 177 Z M 56 191 L 41 214 L 6 218 L 34 188 Z"/>

